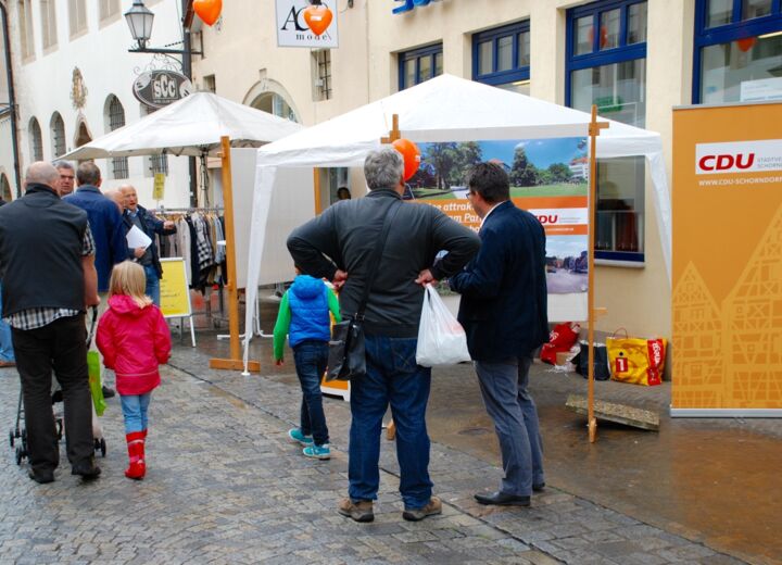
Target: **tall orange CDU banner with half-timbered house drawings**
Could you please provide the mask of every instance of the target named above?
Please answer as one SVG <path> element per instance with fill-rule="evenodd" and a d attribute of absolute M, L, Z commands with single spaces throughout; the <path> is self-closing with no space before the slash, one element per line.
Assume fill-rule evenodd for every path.
<path fill-rule="evenodd" d="M 779 124 L 782 103 L 673 112 L 673 415 L 782 410 Z"/>

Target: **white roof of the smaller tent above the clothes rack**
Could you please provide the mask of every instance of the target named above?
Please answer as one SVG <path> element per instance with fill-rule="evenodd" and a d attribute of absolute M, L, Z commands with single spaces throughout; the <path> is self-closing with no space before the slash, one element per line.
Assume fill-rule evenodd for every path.
<path fill-rule="evenodd" d="M 215 153 L 222 136 L 234 147 L 258 147 L 303 126 L 212 92 L 195 92 L 138 122 L 121 127 L 64 155 L 103 159 L 168 153 Z"/>

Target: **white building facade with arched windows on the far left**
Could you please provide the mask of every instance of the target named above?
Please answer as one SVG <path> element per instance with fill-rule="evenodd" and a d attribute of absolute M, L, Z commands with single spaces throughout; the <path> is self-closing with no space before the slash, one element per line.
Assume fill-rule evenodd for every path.
<path fill-rule="evenodd" d="M 155 13 L 154 45 L 180 42 L 180 3 L 147 3 Z M 161 66 L 180 70 L 171 58 L 128 52 L 127 8 L 121 0 L 8 1 L 22 171 L 140 120 L 150 109 L 134 97 L 138 74 Z M 1 116 L 0 136 L 0 175 L 12 181 L 11 127 Z M 155 173 L 167 175 L 162 203 L 190 202 L 187 158 L 118 158 L 98 160 L 98 165 L 104 189 L 133 184 L 144 205 L 155 205 Z"/>

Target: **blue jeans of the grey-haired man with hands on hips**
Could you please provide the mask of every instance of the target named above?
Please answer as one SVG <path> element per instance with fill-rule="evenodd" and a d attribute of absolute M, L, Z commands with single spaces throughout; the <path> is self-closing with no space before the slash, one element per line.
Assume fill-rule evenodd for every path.
<path fill-rule="evenodd" d="M 351 430 L 348 493 L 376 500 L 380 487 L 380 432 L 389 403 L 396 425 L 400 493 L 406 510 L 431 499 L 426 407 L 431 369 L 416 364 L 417 338 L 366 336 L 367 372 L 351 381 Z"/>

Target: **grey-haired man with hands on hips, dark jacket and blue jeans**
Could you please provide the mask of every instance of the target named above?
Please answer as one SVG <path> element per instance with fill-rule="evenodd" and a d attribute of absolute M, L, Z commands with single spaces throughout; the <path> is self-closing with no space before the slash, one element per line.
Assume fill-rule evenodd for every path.
<path fill-rule="evenodd" d="M 403 203 L 403 170 L 394 149 L 369 153 L 364 163 L 369 194 L 337 202 L 288 238 L 293 261 L 304 273 L 342 287 L 340 311 L 346 319 L 366 288 L 386 214 L 395 213 L 366 306 L 367 371 L 351 381 L 350 487 L 339 512 L 356 522 L 374 519 L 380 431 L 389 403 L 396 425 L 403 517 L 419 520 L 441 512 L 428 469 L 431 371 L 415 360 L 422 285 L 456 273 L 480 244 L 472 231 L 439 210 Z M 436 265 L 441 250 L 449 253 Z"/>

